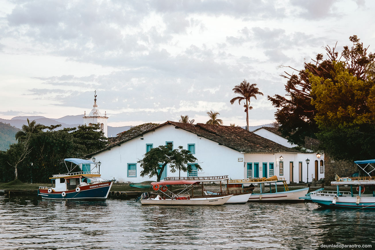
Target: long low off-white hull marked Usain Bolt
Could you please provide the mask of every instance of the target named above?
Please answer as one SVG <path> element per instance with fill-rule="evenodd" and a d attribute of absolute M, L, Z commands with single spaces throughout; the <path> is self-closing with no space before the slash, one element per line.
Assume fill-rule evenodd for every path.
<path fill-rule="evenodd" d="M 220 197 L 207 198 L 190 198 L 190 200 L 175 200 L 175 199 L 143 199 L 142 205 L 177 205 L 177 206 L 215 206 L 223 205 L 231 198 L 232 195 Z"/>

